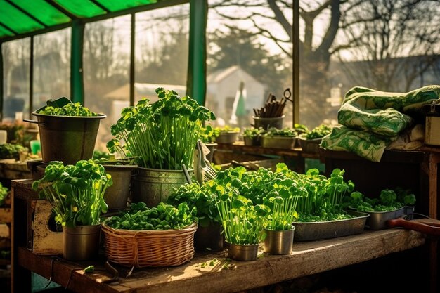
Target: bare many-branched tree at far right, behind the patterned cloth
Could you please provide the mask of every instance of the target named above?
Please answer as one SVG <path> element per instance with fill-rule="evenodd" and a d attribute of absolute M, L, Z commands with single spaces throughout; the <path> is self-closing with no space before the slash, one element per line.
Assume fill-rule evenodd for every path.
<path fill-rule="evenodd" d="M 350 82 L 382 91 L 422 86 L 440 57 L 439 12 L 438 1 L 426 0 L 372 0 L 351 11 L 341 23 L 345 43 L 335 46 Z"/>

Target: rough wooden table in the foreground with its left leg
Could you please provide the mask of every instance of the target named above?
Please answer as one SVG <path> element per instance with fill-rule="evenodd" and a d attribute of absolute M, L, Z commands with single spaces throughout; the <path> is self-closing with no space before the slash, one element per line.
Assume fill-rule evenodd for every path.
<path fill-rule="evenodd" d="M 30 180 L 15 180 L 13 187 L 12 292 L 31 292 L 31 273 L 53 280 L 73 292 L 240 292 L 271 285 L 306 275 L 342 268 L 381 256 L 403 252 L 425 244 L 425 235 L 388 229 L 365 231 L 358 235 L 330 240 L 295 242 L 290 255 L 273 256 L 260 251 L 257 261 L 228 261 L 226 252 L 196 253 L 181 266 L 135 269 L 125 278 L 129 268 L 115 266 L 119 278 L 108 283 L 113 275 L 105 271 L 105 258 L 72 263 L 60 256 L 41 256 L 32 252 L 32 230 L 23 207 L 37 200 L 30 190 Z M 31 200 L 31 201 L 30 201 Z M 32 213 L 31 213 L 32 214 Z M 31 237 L 31 238 L 30 238 Z M 217 261 L 214 261 L 216 259 Z M 214 261 L 214 266 L 209 263 Z M 83 269 L 93 264 L 95 273 Z M 227 267 L 226 267 L 227 266 Z M 417 264 L 411 265 L 416 267 Z"/>

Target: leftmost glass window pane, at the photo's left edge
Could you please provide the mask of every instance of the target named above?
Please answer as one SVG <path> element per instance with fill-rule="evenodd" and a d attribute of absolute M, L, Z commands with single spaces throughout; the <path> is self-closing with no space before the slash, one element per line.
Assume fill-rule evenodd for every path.
<path fill-rule="evenodd" d="M 30 39 L 1 45 L 4 62 L 4 101 L 2 122 L 14 122 L 15 112 L 29 112 Z"/>

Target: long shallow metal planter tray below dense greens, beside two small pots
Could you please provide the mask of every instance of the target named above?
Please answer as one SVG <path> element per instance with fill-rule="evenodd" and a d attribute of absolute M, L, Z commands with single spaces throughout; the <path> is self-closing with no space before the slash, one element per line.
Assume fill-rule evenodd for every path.
<path fill-rule="evenodd" d="M 360 211 L 347 211 L 347 213 L 356 218 L 323 222 L 294 222 L 295 241 L 320 240 L 362 233 L 369 215 Z"/>

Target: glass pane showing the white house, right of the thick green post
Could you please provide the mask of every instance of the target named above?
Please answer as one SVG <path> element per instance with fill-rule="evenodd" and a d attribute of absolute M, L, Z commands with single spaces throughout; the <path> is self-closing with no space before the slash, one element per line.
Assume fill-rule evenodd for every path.
<path fill-rule="evenodd" d="M 209 0 L 206 105 L 217 125 L 250 127 L 270 93 L 281 102 L 292 89 L 291 34 L 292 1 Z M 238 102 L 241 82 L 245 103 Z M 292 103 L 281 112 L 292 126 Z"/>

